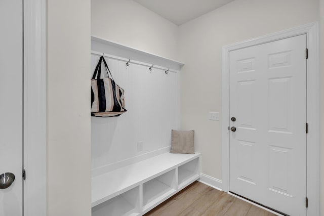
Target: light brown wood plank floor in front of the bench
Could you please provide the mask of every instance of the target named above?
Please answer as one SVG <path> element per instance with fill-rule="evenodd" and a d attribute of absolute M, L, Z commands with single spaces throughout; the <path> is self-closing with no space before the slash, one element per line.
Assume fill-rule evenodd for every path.
<path fill-rule="evenodd" d="M 211 188 L 194 182 L 184 190 L 147 212 L 145 216 L 275 216 L 256 207 Z"/>

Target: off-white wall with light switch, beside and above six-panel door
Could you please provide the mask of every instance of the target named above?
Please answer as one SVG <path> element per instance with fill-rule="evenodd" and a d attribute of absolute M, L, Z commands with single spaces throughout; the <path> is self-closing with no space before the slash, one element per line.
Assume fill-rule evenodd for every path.
<path fill-rule="evenodd" d="M 318 0 L 236 0 L 179 27 L 181 128 L 195 129 L 202 172 L 222 179 L 222 47 L 318 21 Z"/>

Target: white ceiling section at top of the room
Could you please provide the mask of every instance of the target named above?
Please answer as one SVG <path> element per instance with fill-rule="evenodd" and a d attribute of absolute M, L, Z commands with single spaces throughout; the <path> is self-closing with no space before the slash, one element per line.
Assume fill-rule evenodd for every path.
<path fill-rule="evenodd" d="M 145 8 L 182 25 L 234 0 L 134 0 Z"/>

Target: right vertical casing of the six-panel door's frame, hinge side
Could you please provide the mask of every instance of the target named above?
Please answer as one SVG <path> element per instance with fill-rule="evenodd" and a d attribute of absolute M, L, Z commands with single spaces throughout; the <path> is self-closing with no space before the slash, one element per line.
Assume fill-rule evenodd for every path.
<path fill-rule="evenodd" d="M 307 215 L 319 215 L 319 41 L 318 24 L 307 33 Z"/>

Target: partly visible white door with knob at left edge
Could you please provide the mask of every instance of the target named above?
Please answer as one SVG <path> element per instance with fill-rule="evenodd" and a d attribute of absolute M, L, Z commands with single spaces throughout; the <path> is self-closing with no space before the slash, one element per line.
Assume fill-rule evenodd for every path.
<path fill-rule="evenodd" d="M 23 200 L 23 4 L 0 0 L 0 215 L 21 216 Z M 12 173 L 15 175 L 13 180 Z M 9 187 L 7 187 L 9 186 Z"/>

